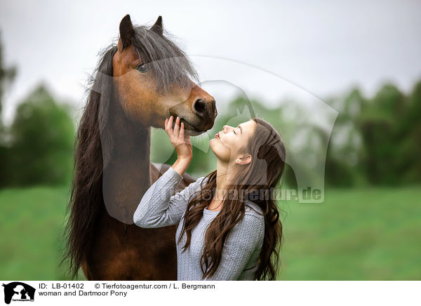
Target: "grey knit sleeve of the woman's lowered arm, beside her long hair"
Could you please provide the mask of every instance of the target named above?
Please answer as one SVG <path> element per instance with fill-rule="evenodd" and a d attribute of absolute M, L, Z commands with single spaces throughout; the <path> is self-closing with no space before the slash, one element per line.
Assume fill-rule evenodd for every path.
<path fill-rule="evenodd" d="M 205 281 L 236 281 L 246 268 L 248 260 L 256 250 L 261 248 L 265 236 L 263 217 L 246 214 L 229 233 L 222 248 L 220 265 L 212 277 Z"/>

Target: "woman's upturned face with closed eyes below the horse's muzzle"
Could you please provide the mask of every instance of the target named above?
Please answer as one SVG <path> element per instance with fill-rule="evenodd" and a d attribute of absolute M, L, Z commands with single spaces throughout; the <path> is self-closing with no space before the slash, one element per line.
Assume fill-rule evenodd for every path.
<path fill-rule="evenodd" d="M 215 134 L 215 138 L 209 140 L 210 149 L 216 157 L 226 163 L 236 162 L 243 164 L 246 156 L 239 153 L 246 147 L 248 140 L 253 135 L 257 124 L 254 120 L 249 120 L 236 127 L 224 126 L 222 131 Z"/>

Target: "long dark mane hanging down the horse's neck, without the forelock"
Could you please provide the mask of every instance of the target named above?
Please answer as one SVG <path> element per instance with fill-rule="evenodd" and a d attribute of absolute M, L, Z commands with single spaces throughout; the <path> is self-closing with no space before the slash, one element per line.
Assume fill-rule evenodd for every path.
<path fill-rule="evenodd" d="M 104 105 L 109 104 L 112 91 L 112 58 L 116 46 L 109 48 L 98 65 L 95 90 L 88 95 L 75 140 L 74 177 L 66 213 L 69 220 L 65 227 L 66 250 L 62 264 L 69 260 L 72 278 L 92 244 L 96 217 L 104 203 L 102 198 L 102 147 L 100 128 L 104 128 L 107 114 Z M 108 76 L 108 78 L 107 78 Z M 100 91 L 100 88 L 102 91 Z M 102 116 L 100 116 L 102 114 Z"/>

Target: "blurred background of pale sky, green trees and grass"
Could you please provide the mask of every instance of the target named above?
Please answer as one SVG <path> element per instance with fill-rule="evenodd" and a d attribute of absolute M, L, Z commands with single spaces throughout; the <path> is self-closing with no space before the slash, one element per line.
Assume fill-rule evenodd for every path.
<path fill-rule="evenodd" d="M 279 280 L 421 279 L 420 3 L 42 2 L 0 5 L 0 279 L 67 279 L 60 238 L 86 79 L 126 13 L 147 25 L 162 15 L 217 101 L 188 173 L 215 169 L 208 140 L 252 114 L 290 150 L 282 187 L 323 171 L 323 203 L 279 201 Z M 175 161 L 165 131 L 152 130 L 151 153 Z"/>

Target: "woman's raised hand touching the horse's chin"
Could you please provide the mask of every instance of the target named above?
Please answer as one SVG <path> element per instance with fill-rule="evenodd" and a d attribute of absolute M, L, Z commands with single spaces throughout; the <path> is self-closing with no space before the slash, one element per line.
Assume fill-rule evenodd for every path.
<path fill-rule="evenodd" d="M 184 124 L 181 123 L 180 117 L 175 120 L 173 129 L 173 116 L 170 119 L 165 119 L 165 131 L 170 136 L 170 141 L 175 151 L 177 152 L 178 159 L 189 159 L 193 158 L 193 146 L 190 141 L 190 135 L 185 133 Z"/>

